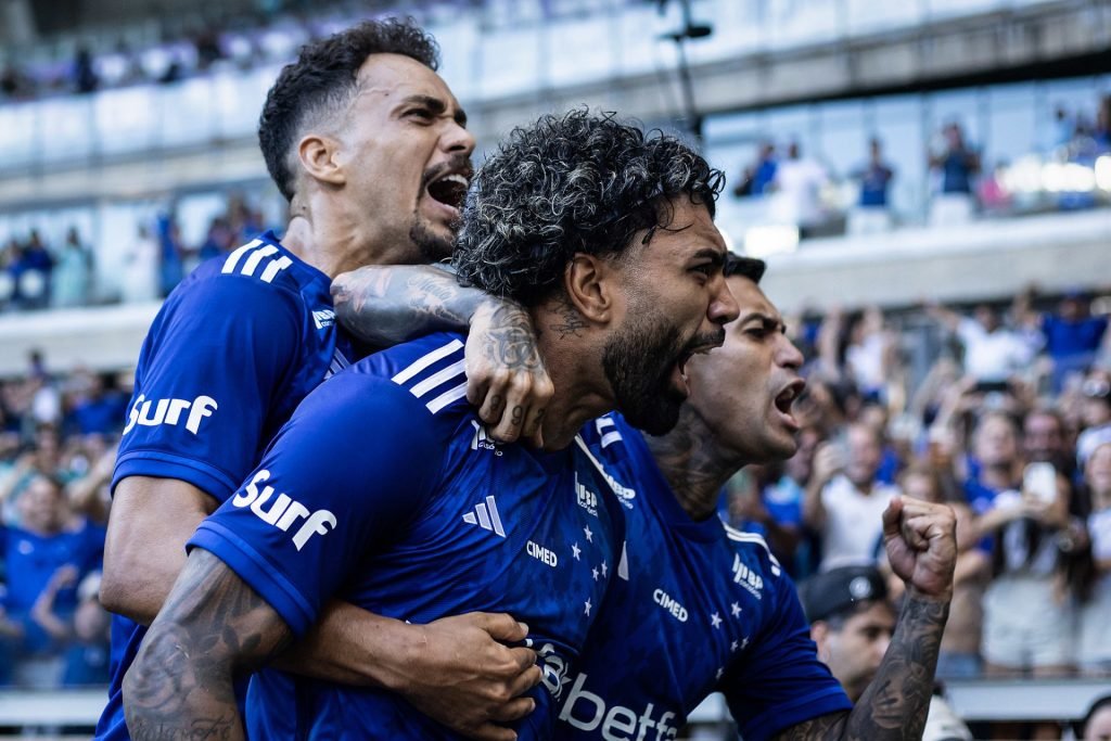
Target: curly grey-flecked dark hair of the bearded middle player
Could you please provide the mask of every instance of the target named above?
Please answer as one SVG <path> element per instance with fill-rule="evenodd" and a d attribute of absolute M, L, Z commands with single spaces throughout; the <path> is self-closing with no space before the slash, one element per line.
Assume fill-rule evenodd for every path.
<path fill-rule="evenodd" d="M 724 177 L 675 137 L 575 109 L 514 129 L 476 174 L 454 252 L 460 281 L 534 306 L 577 253 L 621 257 L 680 196 L 712 217 Z"/>

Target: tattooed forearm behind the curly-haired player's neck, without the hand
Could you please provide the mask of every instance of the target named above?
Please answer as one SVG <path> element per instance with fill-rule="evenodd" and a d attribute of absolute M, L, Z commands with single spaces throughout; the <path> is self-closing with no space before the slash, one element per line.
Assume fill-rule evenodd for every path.
<path fill-rule="evenodd" d="M 332 281 L 340 322 L 363 342 L 396 344 L 439 330 L 467 331 L 490 300 L 436 266 L 368 266 Z"/>

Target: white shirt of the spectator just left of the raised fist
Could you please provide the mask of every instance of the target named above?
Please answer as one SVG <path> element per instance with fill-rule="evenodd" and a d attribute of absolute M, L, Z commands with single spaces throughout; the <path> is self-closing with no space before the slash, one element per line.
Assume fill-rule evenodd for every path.
<path fill-rule="evenodd" d="M 899 489 L 882 483 L 862 493 L 843 473 L 822 489 L 825 528 L 822 530 L 822 571 L 875 563 L 883 534 L 883 510 Z"/>

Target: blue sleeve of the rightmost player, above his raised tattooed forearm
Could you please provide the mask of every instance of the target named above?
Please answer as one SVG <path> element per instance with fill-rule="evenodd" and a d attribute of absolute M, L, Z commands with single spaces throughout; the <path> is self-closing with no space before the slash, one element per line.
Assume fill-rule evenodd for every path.
<path fill-rule="evenodd" d="M 770 739 L 791 725 L 852 709 L 844 690 L 818 660 L 793 584 L 785 577 L 775 581 L 774 612 L 721 684 L 745 741 Z"/>

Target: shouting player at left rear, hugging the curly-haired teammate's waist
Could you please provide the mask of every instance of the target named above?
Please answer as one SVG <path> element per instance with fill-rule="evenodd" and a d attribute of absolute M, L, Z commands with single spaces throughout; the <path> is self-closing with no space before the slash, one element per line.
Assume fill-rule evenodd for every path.
<path fill-rule="evenodd" d="M 286 236 L 267 232 L 204 263 L 156 318 L 112 481 L 101 598 L 118 617 L 98 739 L 128 738 L 120 682 L 142 625 L 184 564 L 189 535 L 243 481 L 301 399 L 348 364 L 331 278 L 367 263 L 450 254 L 474 140 L 436 67 L 434 41 L 409 22 L 366 22 L 304 47 L 271 89 L 259 126 L 267 166 L 290 202 Z M 479 292 L 471 294 L 473 310 Z M 490 307 L 501 329 L 527 323 L 504 302 L 482 306 L 481 337 L 472 332 L 479 347 Z M 476 382 L 490 378 L 483 360 L 478 354 L 471 366 Z M 542 403 L 528 399 L 550 382 L 534 362 L 524 367 L 533 360 L 527 348 L 516 366 L 498 371 L 511 388 L 494 379 L 479 390 L 504 398 L 504 409 L 523 409 L 492 434 L 512 438 L 536 427 Z M 498 417 L 487 410 L 483 420 Z M 454 728 L 504 739 L 488 715 L 528 712 L 530 701 L 506 702 L 507 688 L 539 681 L 539 671 L 531 650 L 494 639 L 523 637 L 508 615 L 411 627 L 333 602 L 286 661 L 384 684 Z"/>

